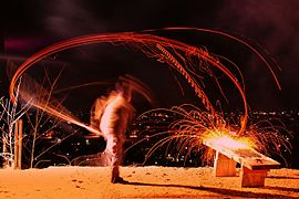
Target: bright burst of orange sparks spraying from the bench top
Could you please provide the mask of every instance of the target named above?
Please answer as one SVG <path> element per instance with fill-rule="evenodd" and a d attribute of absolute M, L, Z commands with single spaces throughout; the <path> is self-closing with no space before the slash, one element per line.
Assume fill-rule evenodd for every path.
<path fill-rule="evenodd" d="M 214 151 L 210 148 L 204 147 L 203 143 L 213 143 L 215 144 L 213 146 L 227 149 L 252 149 L 266 155 L 275 153 L 280 157 L 282 157 L 280 146 L 283 146 L 282 148 L 287 150 L 291 148 L 290 143 L 283 138 L 283 133 L 289 136 L 290 133 L 283 126 L 275 126 L 268 121 L 265 128 L 265 123 L 259 122 L 249 126 L 250 130 L 240 136 L 236 134 L 236 127 L 233 127 L 233 125 L 229 125 L 224 119 L 212 119 L 209 113 L 189 104 L 174 106 L 171 109 L 157 108 L 148 111 L 142 114 L 137 122 L 142 123 L 143 118 L 146 118 L 144 122 L 148 124 L 151 115 L 158 114 L 162 116 L 167 115 L 169 123 L 165 123 L 157 133 L 150 136 L 150 138 L 162 138 L 148 150 L 145 161 L 155 150 L 163 146 L 167 146 L 166 150 L 177 151 L 177 156 L 184 154 L 185 160 L 192 151 L 200 151 L 203 160 L 208 163 L 212 163 Z M 155 126 L 155 123 L 153 124 Z M 154 126 L 150 128 L 153 132 L 155 132 Z M 264 128 L 260 126 L 264 126 Z M 148 137 L 141 139 L 135 145 L 146 139 Z M 175 149 L 169 148 L 172 144 L 174 144 Z M 188 150 L 184 151 L 184 148 L 188 148 Z M 167 153 L 169 151 L 165 154 Z"/>

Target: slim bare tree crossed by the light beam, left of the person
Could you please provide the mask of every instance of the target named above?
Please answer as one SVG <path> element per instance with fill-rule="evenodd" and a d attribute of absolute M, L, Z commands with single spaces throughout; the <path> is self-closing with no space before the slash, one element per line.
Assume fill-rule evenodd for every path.
<path fill-rule="evenodd" d="M 58 117 L 51 116 L 44 109 L 48 106 L 54 107 L 56 112 L 63 112 L 62 101 L 58 102 L 53 100 L 52 94 L 59 81 L 62 71 L 52 80 L 49 76 L 47 67 L 44 69 L 44 78 L 41 84 L 37 83 L 30 76 L 25 76 L 25 86 L 21 88 L 21 96 L 24 101 L 31 101 L 32 107 L 39 106 L 40 108 L 32 108 L 25 113 L 27 117 L 27 132 L 29 138 L 24 143 L 24 148 L 29 151 L 30 168 L 34 167 L 34 163 L 47 151 L 55 146 L 45 148 L 40 154 L 37 154 L 37 146 L 39 140 L 43 138 L 52 138 L 55 133 L 55 128 L 61 121 Z M 34 93 L 33 93 L 34 92 Z"/>

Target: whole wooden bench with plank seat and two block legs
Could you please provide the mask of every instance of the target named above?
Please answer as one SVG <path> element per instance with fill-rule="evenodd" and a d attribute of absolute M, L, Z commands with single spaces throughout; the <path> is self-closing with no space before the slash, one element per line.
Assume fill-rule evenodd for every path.
<path fill-rule="evenodd" d="M 204 145 L 216 150 L 214 171 L 216 177 L 237 176 L 237 163 L 241 166 L 241 187 L 264 187 L 265 178 L 270 169 L 280 168 L 280 164 L 250 148 L 229 148 L 213 139 Z"/>

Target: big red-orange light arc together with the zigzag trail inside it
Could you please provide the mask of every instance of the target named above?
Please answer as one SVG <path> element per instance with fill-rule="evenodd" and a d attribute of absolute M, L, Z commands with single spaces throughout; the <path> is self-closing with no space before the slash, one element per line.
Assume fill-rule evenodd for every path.
<path fill-rule="evenodd" d="M 14 96 L 13 91 L 14 91 L 14 86 L 18 80 L 34 63 L 39 62 L 40 60 L 47 56 L 50 56 L 54 53 L 58 53 L 66 49 L 92 44 L 92 43 L 104 43 L 104 42 L 133 45 L 134 48 L 140 49 L 147 56 L 154 57 L 157 61 L 165 61 L 166 63 L 168 63 L 169 66 L 173 66 L 175 70 L 177 70 L 188 81 L 188 83 L 190 83 L 197 96 L 202 100 L 205 107 L 209 112 L 212 112 L 215 118 L 217 118 L 215 116 L 217 113 L 215 112 L 213 105 L 209 103 L 208 97 L 206 96 L 205 92 L 194 81 L 194 77 L 192 77 L 189 73 L 186 72 L 186 70 L 184 69 L 186 66 L 184 64 L 187 63 L 186 60 L 183 60 L 184 55 L 189 54 L 189 56 L 192 55 L 198 60 L 203 60 L 205 63 L 208 63 L 210 66 L 214 66 L 220 70 L 236 85 L 236 87 L 238 88 L 241 95 L 245 113 L 244 113 L 243 119 L 240 121 L 241 127 L 239 129 L 239 134 L 245 132 L 247 119 L 248 119 L 248 107 L 247 107 L 246 95 L 245 95 L 243 86 L 239 83 L 240 81 L 238 81 L 236 76 L 226 66 L 224 66 L 217 59 L 212 56 L 207 51 L 203 49 L 195 48 L 195 46 L 188 45 L 186 43 L 183 43 L 176 40 L 171 40 L 171 39 L 152 35 L 152 34 L 136 33 L 136 32 L 94 34 L 94 35 L 74 38 L 74 39 L 62 41 L 51 46 L 48 46 L 44 50 L 33 54 L 23 64 L 21 64 L 21 66 L 17 70 L 17 72 L 14 73 L 12 77 L 10 90 L 9 90 L 11 101 L 13 103 L 16 102 L 16 96 Z M 175 59 L 174 55 L 178 56 L 181 61 Z M 184 64 L 182 65 L 179 62 L 183 62 Z M 189 66 L 193 69 L 200 67 L 200 65 L 192 65 L 192 63 L 187 63 L 187 64 L 189 64 Z"/>

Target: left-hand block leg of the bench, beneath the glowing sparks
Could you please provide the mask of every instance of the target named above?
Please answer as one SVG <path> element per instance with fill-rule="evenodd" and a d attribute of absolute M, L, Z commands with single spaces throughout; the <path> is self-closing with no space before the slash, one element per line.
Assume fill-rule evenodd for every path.
<path fill-rule="evenodd" d="M 233 177 L 236 176 L 237 163 L 216 151 L 216 158 L 214 163 L 214 174 L 216 177 Z"/>

